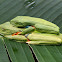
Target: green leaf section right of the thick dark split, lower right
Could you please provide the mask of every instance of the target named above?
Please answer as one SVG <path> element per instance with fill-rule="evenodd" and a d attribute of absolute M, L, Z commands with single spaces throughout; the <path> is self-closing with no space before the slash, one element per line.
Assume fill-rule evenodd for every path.
<path fill-rule="evenodd" d="M 62 62 L 62 46 L 31 45 L 39 62 Z"/>

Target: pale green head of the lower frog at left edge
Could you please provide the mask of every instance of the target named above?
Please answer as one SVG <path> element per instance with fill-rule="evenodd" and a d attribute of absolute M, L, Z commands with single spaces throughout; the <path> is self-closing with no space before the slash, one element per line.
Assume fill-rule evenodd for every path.
<path fill-rule="evenodd" d="M 0 25 L 0 33 L 4 35 L 13 34 L 15 32 L 19 32 L 23 29 L 14 27 L 10 24 L 10 22 L 6 22 Z"/>

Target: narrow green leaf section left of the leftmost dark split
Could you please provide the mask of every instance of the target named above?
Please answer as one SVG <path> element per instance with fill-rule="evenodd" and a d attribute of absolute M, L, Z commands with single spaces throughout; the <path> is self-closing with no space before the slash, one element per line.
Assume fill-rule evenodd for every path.
<path fill-rule="evenodd" d="M 0 62 L 10 62 L 4 47 L 3 38 L 0 36 Z"/>

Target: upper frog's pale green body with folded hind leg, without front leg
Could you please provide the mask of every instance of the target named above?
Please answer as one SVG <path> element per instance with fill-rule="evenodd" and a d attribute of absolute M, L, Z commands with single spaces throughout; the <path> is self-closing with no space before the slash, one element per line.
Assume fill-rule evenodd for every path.
<path fill-rule="evenodd" d="M 39 32 L 59 34 L 59 27 L 41 18 L 17 16 L 10 21 L 16 27 L 34 26 Z"/>

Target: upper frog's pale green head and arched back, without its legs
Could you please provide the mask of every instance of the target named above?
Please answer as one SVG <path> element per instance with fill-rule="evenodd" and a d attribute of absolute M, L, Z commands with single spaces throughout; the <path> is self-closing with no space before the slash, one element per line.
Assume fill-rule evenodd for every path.
<path fill-rule="evenodd" d="M 29 17 L 29 16 L 17 16 L 15 18 L 13 18 L 11 21 L 10 21 L 13 25 L 16 24 L 16 22 L 19 22 L 17 23 L 15 26 L 19 26 L 20 24 L 22 26 L 25 26 L 27 24 L 37 24 L 37 23 L 41 23 L 41 24 L 45 24 L 45 25 L 48 25 L 48 26 L 53 26 L 53 27 L 57 27 L 59 28 L 57 25 L 49 22 L 49 21 L 46 21 L 44 19 L 41 19 L 41 18 L 35 18 L 35 17 Z M 21 27 L 20 25 L 20 27 Z"/>

